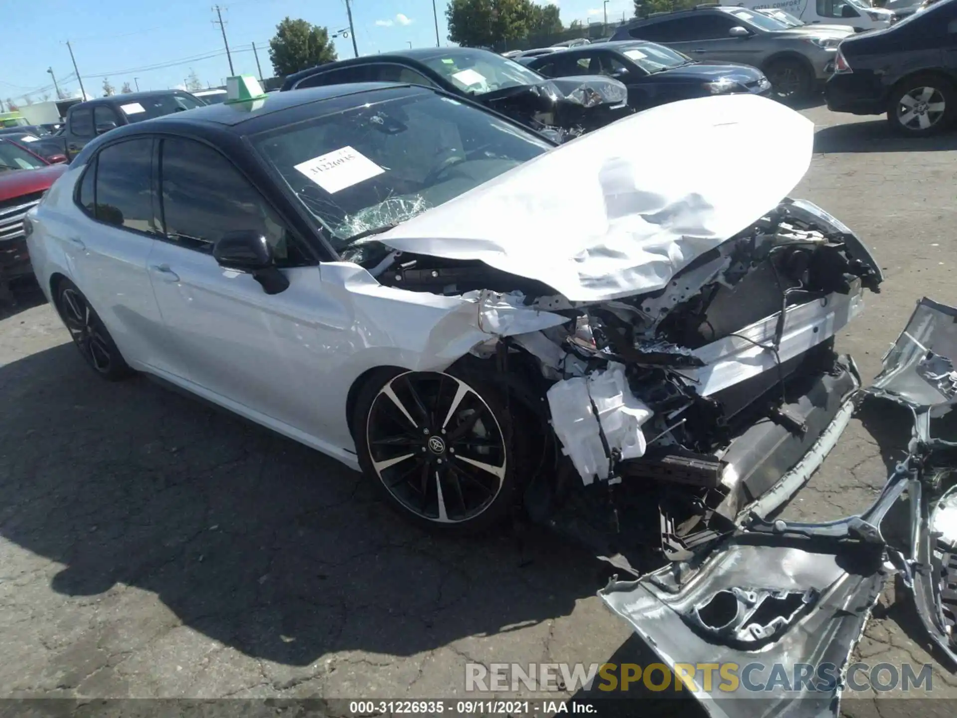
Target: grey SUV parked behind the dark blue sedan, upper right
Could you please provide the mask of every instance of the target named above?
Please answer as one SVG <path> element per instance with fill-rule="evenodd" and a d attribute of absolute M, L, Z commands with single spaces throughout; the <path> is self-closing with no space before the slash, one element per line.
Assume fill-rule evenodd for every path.
<path fill-rule="evenodd" d="M 851 34 L 851 28 L 789 28 L 744 8 L 701 6 L 637 20 L 612 39 L 651 40 L 698 60 L 752 65 L 768 77 L 775 97 L 796 100 L 831 77 L 837 45 Z"/>

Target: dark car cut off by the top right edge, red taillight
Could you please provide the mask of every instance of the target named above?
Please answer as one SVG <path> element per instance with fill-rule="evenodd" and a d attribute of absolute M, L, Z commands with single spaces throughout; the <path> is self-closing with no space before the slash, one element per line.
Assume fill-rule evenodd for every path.
<path fill-rule="evenodd" d="M 825 88 L 835 112 L 881 115 L 905 135 L 931 135 L 957 117 L 957 1 L 945 0 L 888 30 L 841 43 Z"/>

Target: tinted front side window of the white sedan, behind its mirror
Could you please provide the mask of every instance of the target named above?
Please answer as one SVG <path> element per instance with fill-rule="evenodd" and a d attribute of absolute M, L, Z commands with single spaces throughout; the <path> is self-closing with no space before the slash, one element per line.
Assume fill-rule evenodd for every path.
<path fill-rule="evenodd" d="M 168 239 L 211 252 L 223 235 L 253 230 L 266 237 L 280 264 L 305 263 L 273 209 L 225 157 L 211 147 L 180 139 L 165 139 L 160 156 Z"/>

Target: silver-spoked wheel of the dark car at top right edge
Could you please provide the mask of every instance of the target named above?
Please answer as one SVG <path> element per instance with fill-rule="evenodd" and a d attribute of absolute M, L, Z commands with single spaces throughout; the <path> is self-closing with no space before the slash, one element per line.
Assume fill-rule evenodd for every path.
<path fill-rule="evenodd" d="M 954 122 L 957 95 L 944 78 L 919 75 L 901 82 L 891 93 L 887 121 L 894 131 L 911 137 L 943 132 Z"/>

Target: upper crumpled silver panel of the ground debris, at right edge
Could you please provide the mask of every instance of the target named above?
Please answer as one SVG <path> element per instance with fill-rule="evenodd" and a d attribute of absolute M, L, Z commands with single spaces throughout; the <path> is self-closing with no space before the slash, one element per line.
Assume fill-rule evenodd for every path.
<path fill-rule="evenodd" d="M 943 415 L 957 398 L 957 309 L 924 297 L 867 389 L 911 407 Z"/>

